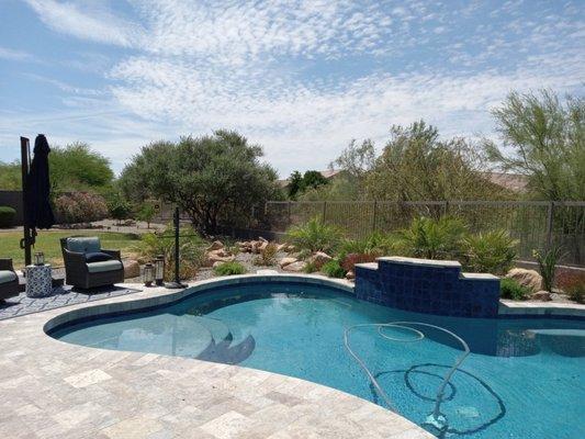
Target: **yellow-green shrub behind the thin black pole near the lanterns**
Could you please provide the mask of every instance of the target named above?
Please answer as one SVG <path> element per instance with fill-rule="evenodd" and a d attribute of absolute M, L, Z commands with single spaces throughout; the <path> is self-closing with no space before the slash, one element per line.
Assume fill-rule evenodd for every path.
<path fill-rule="evenodd" d="M 183 229 L 179 238 L 179 277 L 193 279 L 205 259 L 206 243 L 193 229 Z M 167 227 L 161 234 L 144 234 L 136 250 L 140 258 L 155 259 L 158 255 L 165 257 L 165 279 L 175 278 L 175 237 L 173 228 Z"/>

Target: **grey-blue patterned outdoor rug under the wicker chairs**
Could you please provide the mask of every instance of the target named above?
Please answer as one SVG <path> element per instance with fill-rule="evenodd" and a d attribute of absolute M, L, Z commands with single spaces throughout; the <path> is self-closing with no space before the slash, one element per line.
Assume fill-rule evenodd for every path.
<path fill-rule="evenodd" d="M 63 306 L 77 305 L 79 303 L 117 297 L 119 295 L 137 293 L 138 291 L 139 290 L 119 286 L 104 286 L 85 291 L 65 285 L 54 288 L 53 294 L 49 296 L 35 299 L 27 297 L 26 294 L 22 292 L 15 297 L 7 299 L 3 303 L 0 301 L 0 320 L 42 311 L 60 308 Z"/>

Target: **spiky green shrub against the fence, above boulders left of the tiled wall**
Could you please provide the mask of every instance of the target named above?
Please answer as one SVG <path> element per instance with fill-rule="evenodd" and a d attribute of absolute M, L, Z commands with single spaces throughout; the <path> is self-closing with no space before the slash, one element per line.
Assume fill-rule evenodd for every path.
<path fill-rule="evenodd" d="M 340 243 L 341 230 L 315 217 L 305 224 L 289 228 L 286 240 L 300 250 L 330 251 Z"/>

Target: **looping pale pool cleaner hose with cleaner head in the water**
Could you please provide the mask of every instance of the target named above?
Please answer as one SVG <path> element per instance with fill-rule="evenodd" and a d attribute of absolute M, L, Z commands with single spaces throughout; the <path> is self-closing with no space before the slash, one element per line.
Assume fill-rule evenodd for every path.
<path fill-rule="evenodd" d="M 463 360 L 465 360 L 465 358 L 470 353 L 470 348 L 469 348 L 468 344 L 465 342 L 465 340 L 463 340 L 461 337 L 459 337 L 457 334 L 450 331 L 449 329 L 445 329 L 445 328 L 441 328 L 440 326 L 436 326 L 436 325 L 430 325 L 428 323 L 421 323 L 421 322 L 391 322 L 391 323 L 364 323 L 364 324 L 350 326 L 344 333 L 344 342 L 345 342 L 346 349 L 349 352 L 349 354 L 357 361 L 357 363 L 360 365 L 360 368 L 365 372 L 365 374 L 368 375 L 368 379 L 370 380 L 370 383 L 375 389 L 375 391 L 378 392 L 380 397 L 384 401 L 386 406 L 392 412 L 397 413 L 397 410 L 396 410 L 394 404 L 392 403 L 390 396 L 386 394 L 386 392 L 384 392 L 384 390 L 382 389 L 382 386 L 378 382 L 378 380 L 374 376 L 374 374 L 370 371 L 370 369 L 368 368 L 365 362 L 356 352 L 353 352 L 353 350 L 351 349 L 351 347 L 349 345 L 349 335 L 350 335 L 350 333 L 353 329 L 357 329 L 357 328 L 374 327 L 374 328 L 376 328 L 378 334 L 382 338 L 385 338 L 385 339 L 391 340 L 391 341 L 416 342 L 416 341 L 423 340 L 425 338 L 425 334 L 421 330 L 419 330 L 419 329 L 413 328 L 412 326 L 424 326 L 424 327 L 434 328 L 434 329 L 443 331 L 445 334 L 448 334 L 451 337 L 453 337 L 463 347 L 463 353 L 461 353 L 461 356 L 457 359 L 454 364 L 451 368 L 449 368 L 449 370 L 447 371 L 447 373 L 445 374 L 445 376 L 443 376 L 443 379 L 441 381 L 441 384 L 437 389 L 437 396 L 435 397 L 435 407 L 434 407 L 432 412 L 427 416 L 427 418 L 425 419 L 425 423 L 424 423 L 426 425 L 429 425 L 429 426 L 432 426 L 432 427 L 437 428 L 438 430 L 445 430 L 447 428 L 447 425 L 448 425 L 447 424 L 447 417 L 441 413 L 441 404 L 442 404 L 443 397 L 445 397 L 445 390 L 446 390 L 447 385 L 450 384 L 450 381 L 451 381 L 451 378 L 453 376 L 453 373 L 458 370 L 458 368 L 461 365 Z M 412 338 L 392 337 L 392 336 L 390 336 L 390 335 L 384 333 L 384 328 L 404 329 L 404 330 L 407 330 L 407 331 L 410 331 L 412 334 L 414 334 L 414 337 L 412 337 Z"/>

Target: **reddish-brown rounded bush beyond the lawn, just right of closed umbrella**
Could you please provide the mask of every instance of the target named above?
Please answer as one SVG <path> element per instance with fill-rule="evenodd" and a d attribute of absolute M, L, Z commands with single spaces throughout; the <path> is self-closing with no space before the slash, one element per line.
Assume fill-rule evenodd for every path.
<path fill-rule="evenodd" d="M 90 223 L 108 217 L 103 196 L 90 192 L 71 192 L 55 200 L 55 213 L 66 224 Z"/>

